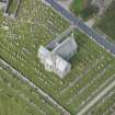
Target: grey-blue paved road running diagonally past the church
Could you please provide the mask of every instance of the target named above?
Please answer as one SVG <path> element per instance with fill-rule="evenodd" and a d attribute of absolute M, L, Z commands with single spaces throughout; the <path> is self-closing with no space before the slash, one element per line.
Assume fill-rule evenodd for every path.
<path fill-rule="evenodd" d="M 115 45 L 107 41 L 104 36 L 97 34 L 93 28 L 89 27 L 84 24 L 80 18 L 74 16 L 72 13 L 64 9 L 60 4 L 56 2 L 56 0 L 45 0 L 48 2 L 57 12 L 68 19 L 71 23 L 76 25 L 77 28 L 82 31 L 84 34 L 90 36 L 90 38 L 94 39 L 97 44 L 104 47 L 106 50 L 115 55 Z"/>

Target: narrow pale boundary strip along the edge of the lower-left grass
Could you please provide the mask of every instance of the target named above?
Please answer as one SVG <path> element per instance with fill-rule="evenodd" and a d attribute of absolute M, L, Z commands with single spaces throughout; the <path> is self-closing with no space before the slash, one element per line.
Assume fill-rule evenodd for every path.
<path fill-rule="evenodd" d="M 15 77 L 20 78 L 23 82 L 27 83 L 31 88 L 35 89 L 48 103 L 53 104 L 55 107 L 66 113 L 66 115 L 71 115 L 64 106 L 61 106 L 58 102 L 56 102 L 51 96 L 49 96 L 46 92 L 44 92 L 41 88 L 35 85 L 32 81 L 27 79 L 27 77 L 21 74 L 16 69 L 14 69 L 11 65 L 9 65 L 5 60 L 0 58 L 0 64 L 2 64 L 7 69 L 9 69 Z"/>

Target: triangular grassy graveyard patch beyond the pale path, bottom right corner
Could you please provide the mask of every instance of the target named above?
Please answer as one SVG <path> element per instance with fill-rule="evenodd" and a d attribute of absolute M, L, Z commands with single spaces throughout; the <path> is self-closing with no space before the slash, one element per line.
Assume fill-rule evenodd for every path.
<path fill-rule="evenodd" d="M 99 103 L 92 106 L 85 115 L 114 115 L 115 113 L 115 88 L 108 92 Z"/>

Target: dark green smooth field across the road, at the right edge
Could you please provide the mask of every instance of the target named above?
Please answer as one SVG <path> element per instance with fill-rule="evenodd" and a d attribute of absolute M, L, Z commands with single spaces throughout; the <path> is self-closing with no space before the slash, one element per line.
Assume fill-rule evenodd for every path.
<path fill-rule="evenodd" d="M 95 26 L 115 41 L 115 2 L 110 5 Z"/>

